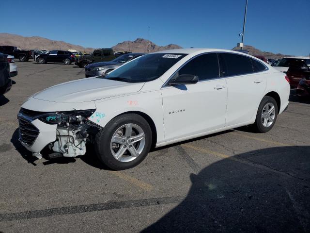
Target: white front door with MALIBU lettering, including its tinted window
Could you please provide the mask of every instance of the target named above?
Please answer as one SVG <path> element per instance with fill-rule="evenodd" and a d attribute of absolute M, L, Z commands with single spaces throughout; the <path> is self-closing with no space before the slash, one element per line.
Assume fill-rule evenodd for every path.
<path fill-rule="evenodd" d="M 225 126 L 227 87 L 219 75 L 217 54 L 193 58 L 171 80 L 182 74 L 197 75 L 199 82 L 162 87 L 166 141 Z"/>

